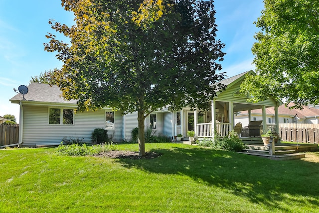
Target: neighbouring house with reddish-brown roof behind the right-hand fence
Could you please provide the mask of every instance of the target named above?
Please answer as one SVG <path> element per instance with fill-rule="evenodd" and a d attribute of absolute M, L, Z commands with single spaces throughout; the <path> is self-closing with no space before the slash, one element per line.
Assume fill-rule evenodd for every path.
<path fill-rule="evenodd" d="M 303 109 L 289 109 L 294 103 L 289 103 L 287 107 L 281 105 L 278 108 L 279 123 L 303 123 L 319 124 L 319 109 L 313 106 L 303 106 Z M 252 110 L 253 120 L 260 120 L 262 117 L 261 109 Z M 296 116 L 296 117 L 295 117 Z M 248 111 L 242 111 L 235 115 L 235 121 L 241 122 L 243 126 L 248 126 Z M 275 123 L 275 109 L 273 107 L 266 109 L 267 124 Z"/>

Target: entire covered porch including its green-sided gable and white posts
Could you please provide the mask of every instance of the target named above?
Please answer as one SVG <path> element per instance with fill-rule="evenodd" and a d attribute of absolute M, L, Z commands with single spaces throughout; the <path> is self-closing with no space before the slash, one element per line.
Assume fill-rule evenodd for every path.
<path fill-rule="evenodd" d="M 236 132 L 238 131 L 240 136 L 260 137 L 262 133 L 267 131 L 279 132 L 278 107 L 282 105 L 282 102 L 273 98 L 258 103 L 248 102 L 250 96 L 242 93 L 240 87 L 248 74 L 255 75 L 250 70 L 220 81 L 227 86 L 226 89 L 217 93 L 214 99 L 207 103 L 205 110 L 184 108 L 181 111 L 176 111 L 175 117 L 172 119 L 174 124 L 172 126 L 173 135 L 181 134 L 183 137 L 187 137 L 187 131 L 194 131 L 195 138 L 198 139 L 228 136 L 229 132 L 235 129 L 236 123 L 241 123 L 238 119 L 235 123 L 235 116 L 241 111 L 248 111 L 249 122 L 245 123 L 258 123 L 259 129 L 255 129 L 256 132 L 252 134 L 253 128 L 249 125 L 247 135 L 242 131 L 247 130 L 247 127 L 241 127 L 238 131 L 237 126 Z M 275 108 L 275 123 L 272 123 L 272 125 L 267 125 L 266 108 L 268 107 Z M 254 109 L 262 109 L 262 118 L 258 119 L 259 122 L 251 117 L 251 110 Z M 241 133 L 243 134 L 241 135 Z"/>

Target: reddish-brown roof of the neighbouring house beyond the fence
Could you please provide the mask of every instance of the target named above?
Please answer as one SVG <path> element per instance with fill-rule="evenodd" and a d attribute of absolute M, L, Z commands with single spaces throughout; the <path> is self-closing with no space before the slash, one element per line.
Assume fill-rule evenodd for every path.
<path fill-rule="evenodd" d="M 319 109 L 314 108 L 312 106 L 303 106 L 303 109 L 289 109 L 289 107 L 294 106 L 294 103 L 289 103 L 287 107 L 285 105 L 281 105 L 278 107 L 278 114 L 280 115 L 287 115 L 290 117 L 294 117 L 296 114 L 299 118 L 306 118 L 306 117 L 315 117 L 319 116 Z M 262 114 L 262 109 L 255 109 L 251 111 L 252 114 Z M 240 113 L 241 115 L 243 114 L 248 114 L 248 111 L 242 111 Z M 274 107 L 269 107 L 266 108 L 266 114 L 267 115 L 275 115 L 275 109 Z"/>

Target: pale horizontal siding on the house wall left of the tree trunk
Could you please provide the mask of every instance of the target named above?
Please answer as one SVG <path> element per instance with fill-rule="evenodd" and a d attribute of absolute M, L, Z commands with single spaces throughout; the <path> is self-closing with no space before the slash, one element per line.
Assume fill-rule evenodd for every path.
<path fill-rule="evenodd" d="M 83 142 L 91 142 L 91 134 L 95 128 L 104 128 L 105 110 L 95 112 L 77 112 L 73 125 L 49 125 L 48 106 L 23 106 L 23 145 L 60 143 L 64 137 L 83 138 Z M 115 130 L 109 130 L 113 141 L 121 140 L 121 112 L 115 112 Z"/>

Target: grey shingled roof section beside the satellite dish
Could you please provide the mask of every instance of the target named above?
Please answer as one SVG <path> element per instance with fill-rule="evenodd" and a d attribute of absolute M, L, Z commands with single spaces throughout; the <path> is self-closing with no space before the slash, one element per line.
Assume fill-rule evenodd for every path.
<path fill-rule="evenodd" d="M 48 103 L 71 103 L 76 104 L 76 100 L 64 100 L 58 86 L 42 83 L 31 83 L 28 86 L 28 93 L 24 95 L 28 102 L 48 102 Z M 12 103 L 18 103 L 23 97 L 20 93 L 10 99 Z"/>

